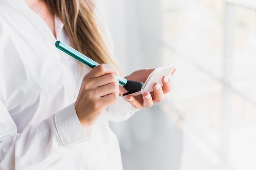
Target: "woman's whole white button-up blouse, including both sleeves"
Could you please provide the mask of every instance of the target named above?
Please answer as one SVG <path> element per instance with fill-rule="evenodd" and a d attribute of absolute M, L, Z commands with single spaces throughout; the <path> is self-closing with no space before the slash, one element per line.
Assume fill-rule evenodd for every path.
<path fill-rule="evenodd" d="M 58 18 L 55 29 L 69 44 Z M 87 137 L 74 109 L 83 76 L 55 42 L 23 0 L 0 0 L 0 170 L 122 170 L 108 121 L 127 120 L 137 109 L 119 100 Z"/>

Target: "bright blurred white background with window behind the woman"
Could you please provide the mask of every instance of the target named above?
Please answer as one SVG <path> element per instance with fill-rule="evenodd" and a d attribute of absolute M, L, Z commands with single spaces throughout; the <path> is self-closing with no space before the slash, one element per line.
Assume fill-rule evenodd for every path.
<path fill-rule="evenodd" d="M 111 124 L 124 170 L 255 170 L 255 2 L 100 1 L 125 75 L 177 69 L 164 102 Z"/>

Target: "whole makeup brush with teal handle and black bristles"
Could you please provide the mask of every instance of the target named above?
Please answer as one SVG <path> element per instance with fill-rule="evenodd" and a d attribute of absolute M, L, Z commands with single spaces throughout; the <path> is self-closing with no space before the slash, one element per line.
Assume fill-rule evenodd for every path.
<path fill-rule="evenodd" d="M 99 65 L 99 63 L 93 61 L 89 57 L 85 56 L 81 52 L 75 50 L 74 48 L 68 46 L 67 44 L 61 42 L 61 41 L 56 41 L 55 46 L 62 50 L 63 52 L 69 54 L 71 57 L 74 57 L 81 63 L 84 63 L 85 65 L 89 66 L 90 68 L 94 68 L 95 66 Z M 139 82 L 139 81 L 130 81 L 127 80 L 126 78 L 117 75 L 117 78 L 119 80 L 119 85 L 123 86 L 124 89 L 128 91 L 128 93 L 135 93 L 139 92 L 144 85 L 144 83 Z"/>

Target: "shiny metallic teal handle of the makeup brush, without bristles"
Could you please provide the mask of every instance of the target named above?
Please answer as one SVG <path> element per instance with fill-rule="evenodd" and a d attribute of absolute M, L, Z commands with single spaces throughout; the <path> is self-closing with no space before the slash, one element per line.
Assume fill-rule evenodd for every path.
<path fill-rule="evenodd" d="M 77 59 L 81 63 L 84 63 L 85 65 L 89 66 L 90 68 L 94 68 L 95 66 L 99 65 L 99 63 L 93 61 L 89 57 L 85 56 L 81 52 L 75 50 L 74 48 L 68 46 L 67 44 L 65 44 L 65 43 L 63 43 L 61 41 L 56 41 L 55 46 L 58 49 L 64 51 L 67 54 L 69 54 L 71 57 L 74 57 L 75 59 Z M 126 83 L 127 83 L 127 79 L 126 78 L 124 78 L 122 76 L 119 76 L 119 75 L 117 75 L 117 78 L 118 78 L 119 84 L 121 86 L 126 85 Z"/>

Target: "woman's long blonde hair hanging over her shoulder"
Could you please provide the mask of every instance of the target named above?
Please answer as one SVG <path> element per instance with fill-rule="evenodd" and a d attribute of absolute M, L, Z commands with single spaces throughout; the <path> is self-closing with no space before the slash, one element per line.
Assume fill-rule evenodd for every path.
<path fill-rule="evenodd" d="M 97 63 L 117 66 L 110 55 L 94 13 L 92 0 L 44 0 L 49 9 L 64 24 L 71 46 Z M 120 70 L 119 70 L 120 71 Z"/>

